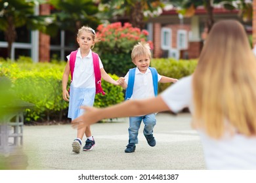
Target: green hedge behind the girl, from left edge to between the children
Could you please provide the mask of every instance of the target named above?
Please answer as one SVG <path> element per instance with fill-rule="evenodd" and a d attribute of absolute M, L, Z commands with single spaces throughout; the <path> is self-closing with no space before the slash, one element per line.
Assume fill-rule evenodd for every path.
<path fill-rule="evenodd" d="M 9 61 L 0 63 L 0 76 L 12 81 L 12 89 L 23 101 L 35 105 L 27 108 L 25 119 L 31 121 L 62 120 L 67 116 L 68 102 L 62 99 L 64 63 L 29 63 Z M 117 80 L 116 75 L 110 75 Z M 102 81 L 106 95 L 95 97 L 96 107 L 106 107 L 123 101 L 123 89 Z"/>

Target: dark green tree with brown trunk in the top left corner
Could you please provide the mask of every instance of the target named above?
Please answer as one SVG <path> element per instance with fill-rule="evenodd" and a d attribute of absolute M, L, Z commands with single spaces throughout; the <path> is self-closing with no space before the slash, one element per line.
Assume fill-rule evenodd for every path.
<path fill-rule="evenodd" d="M 7 52 L 11 58 L 12 43 L 16 39 L 16 28 L 26 25 L 28 29 L 47 31 L 51 23 L 51 16 L 35 15 L 35 5 L 44 1 L 40 0 L 1 0 L 0 1 L 0 30 L 5 33 L 8 42 Z"/>

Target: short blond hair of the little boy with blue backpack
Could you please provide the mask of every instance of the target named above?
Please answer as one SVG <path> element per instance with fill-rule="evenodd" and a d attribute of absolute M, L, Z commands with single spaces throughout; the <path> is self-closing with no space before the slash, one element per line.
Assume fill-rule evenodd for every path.
<path fill-rule="evenodd" d="M 131 59 L 134 61 L 138 56 L 149 56 L 151 59 L 150 45 L 146 42 L 138 42 L 135 46 L 133 46 L 133 50 L 131 52 Z"/>

